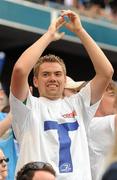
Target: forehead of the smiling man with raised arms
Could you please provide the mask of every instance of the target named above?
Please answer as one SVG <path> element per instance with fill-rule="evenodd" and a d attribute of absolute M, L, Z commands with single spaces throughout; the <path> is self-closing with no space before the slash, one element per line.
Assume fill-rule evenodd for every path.
<path fill-rule="evenodd" d="M 40 71 L 41 72 L 56 72 L 61 71 L 63 72 L 62 66 L 57 62 L 44 62 L 40 65 Z"/>

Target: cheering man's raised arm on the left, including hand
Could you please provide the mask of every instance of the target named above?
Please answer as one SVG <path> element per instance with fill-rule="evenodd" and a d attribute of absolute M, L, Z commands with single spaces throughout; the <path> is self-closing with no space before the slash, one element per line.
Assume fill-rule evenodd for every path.
<path fill-rule="evenodd" d="M 58 33 L 57 30 L 64 24 L 62 17 L 57 18 L 48 31 L 38 39 L 33 45 L 31 45 L 20 56 L 16 62 L 12 78 L 11 78 L 11 91 L 15 97 L 24 101 L 28 95 L 28 76 L 34 65 L 42 55 L 45 48 L 52 42 L 59 40 L 63 37 L 64 33 Z"/>

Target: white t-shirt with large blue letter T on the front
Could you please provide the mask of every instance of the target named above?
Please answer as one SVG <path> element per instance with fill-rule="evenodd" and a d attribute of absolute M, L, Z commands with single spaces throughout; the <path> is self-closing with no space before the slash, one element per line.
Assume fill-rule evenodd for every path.
<path fill-rule="evenodd" d="M 16 172 L 27 162 L 44 161 L 52 164 L 57 180 L 91 180 L 85 128 L 99 102 L 90 106 L 90 94 L 89 84 L 58 100 L 29 93 L 25 105 L 11 93 L 13 129 L 20 146 Z"/>

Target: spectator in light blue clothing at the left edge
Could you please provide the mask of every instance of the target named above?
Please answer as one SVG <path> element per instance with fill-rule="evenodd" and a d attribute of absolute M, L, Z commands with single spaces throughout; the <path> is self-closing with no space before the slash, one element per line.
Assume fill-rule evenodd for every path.
<path fill-rule="evenodd" d="M 14 134 L 11 128 L 12 115 L 10 113 L 10 107 L 8 103 L 3 103 L 3 102 L 6 102 L 4 100 L 4 97 L 5 98 L 7 97 L 5 93 L 3 94 L 4 95 L 2 96 L 2 99 L 1 99 L 1 102 L 2 102 L 1 107 L 3 107 L 3 109 L 1 109 L 2 112 L 0 112 L 0 148 L 3 149 L 7 157 L 10 157 L 10 162 L 8 164 L 8 176 L 6 179 L 13 180 L 16 162 L 17 162 L 17 150 L 16 150 L 17 146 L 15 143 L 16 141 L 14 139 Z"/>

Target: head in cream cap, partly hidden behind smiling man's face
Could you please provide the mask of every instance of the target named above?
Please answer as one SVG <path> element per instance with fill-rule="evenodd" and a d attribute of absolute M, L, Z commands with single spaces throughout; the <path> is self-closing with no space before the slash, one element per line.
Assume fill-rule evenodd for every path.
<path fill-rule="evenodd" d="M 73 94 L 76 94 L 82 89 L 82 87 L 86 85 L 86 83 L 87 82 L 85 81 L 74 81 L 72 78 L 67 76 L 63 96 L 69 97 Z"/>

